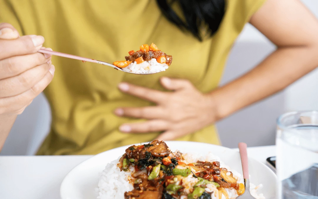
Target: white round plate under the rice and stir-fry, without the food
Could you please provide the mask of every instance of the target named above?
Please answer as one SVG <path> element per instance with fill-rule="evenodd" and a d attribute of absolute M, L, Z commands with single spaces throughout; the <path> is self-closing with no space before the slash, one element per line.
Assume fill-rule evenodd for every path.
<path fill-rule="evenodd" d="M 242 166 L 239 152 L 232 149 L 199 142 L 167 141 L 171 151 L 178 149 L 181 153 L 207 153 L 212 152 L 220 157 L 232 170 L 242 174 Z M 137 144 L 138 145 L 138 144 Z M 98 185 L 99 173 L 102 172 L 106 164 L 116 160 L 125 153 L 128 146 L 122 146 L 103 153 L 97 154 L 74 167 L 64 178 L 60 194 L 62 199 L 96 199 L 95 188 Z M 263 163 L 253 159 L 248 159 L 250 182 L 258 185 L 263 184 L 259 191 L 266 199 L 275 198 L 276 175 Z"/>

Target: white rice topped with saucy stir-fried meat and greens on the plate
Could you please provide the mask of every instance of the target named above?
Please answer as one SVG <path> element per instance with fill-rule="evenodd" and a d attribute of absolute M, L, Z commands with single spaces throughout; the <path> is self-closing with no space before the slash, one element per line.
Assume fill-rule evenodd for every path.
<path fill-rule="evenodd" d="M 98 199 L 230 199 L 245 191 L 243 179 L 222 167 L 215 156 L 172 153 L 163 141 L 130 146 L 107 164 L 99 182 Z M 251 184 L 256 194 L 262 185 Z"/>

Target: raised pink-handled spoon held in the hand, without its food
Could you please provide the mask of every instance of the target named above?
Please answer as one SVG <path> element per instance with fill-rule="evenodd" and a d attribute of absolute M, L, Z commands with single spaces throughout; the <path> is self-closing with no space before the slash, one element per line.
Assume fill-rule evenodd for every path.
<path fill-rule="evenodd" d="M 107 65 L 110 67 L 115 68 L 116 70 L 120 70 L 126 73 L 131 73 L 131 74 L 137 74 L 137 75 L 150 75 L 150 74 L 155 74 L 155 73 L 133 73 L 133 72 L 128 72 L 128 71 L 124 71 L 121 68 L 118 68 L 117 66 L 114 66 L 113 64 L 104 62 L 104 61 L 99 61 L 99 60 L 93 60 L 93 59 L 89 59 L 89 58 L 85 58 L 85 57 L 79 57 L 76 55 L 71 55 L 71 54 L 66 54 L 66 53 L 59 53 L 59 52 L 55 52 L 55 51 L 51 51 L 51 50 L 46 50 L 46 49 L 40 49 L 38 50 L 39 53 L 45 53 L 45 54 L 52 54 L 52 55 L 56 55 L 56 56 L 60 56 L 60 57 L 66 57 L 66 58 L 71 58 L 71 59 L 75 59 L 75 60 L 82 60 L 83 63 L 85 63 L 86 61 L 89 62 L 93 62 L 93 63 L 97 63 L 97 64 L 102 64 L 102 65 Z"/>

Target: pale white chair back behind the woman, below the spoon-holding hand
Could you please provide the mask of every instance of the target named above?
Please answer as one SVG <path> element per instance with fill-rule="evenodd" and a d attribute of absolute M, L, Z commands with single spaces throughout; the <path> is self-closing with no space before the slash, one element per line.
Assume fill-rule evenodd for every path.
<path fill-rule="evenodd" d="M 51 108 L 41 93 L 17 117 L 0 155 L 34 155 L 50 131 Z"/>

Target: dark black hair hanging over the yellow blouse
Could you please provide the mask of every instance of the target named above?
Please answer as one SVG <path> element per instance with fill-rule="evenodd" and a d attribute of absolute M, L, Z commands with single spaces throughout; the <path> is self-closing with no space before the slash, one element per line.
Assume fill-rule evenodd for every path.
<path fill-rule="evenodd" d="M 162 13 L 169 21 L 182 30 L 190 31 L 197 39 L 202 40 L 201 28 L 208 26 L 208 34 L 212 36 L 217 30 L 225 13 L 225 0 L 157 0 Z M 178 2 L 185 21 L 171 8 Z"/>

